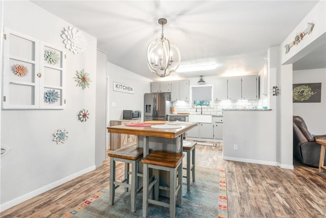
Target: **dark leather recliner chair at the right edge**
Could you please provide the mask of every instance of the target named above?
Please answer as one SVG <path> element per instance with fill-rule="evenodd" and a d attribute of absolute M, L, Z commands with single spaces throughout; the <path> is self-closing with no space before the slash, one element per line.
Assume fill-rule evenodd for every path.
<path fill-rule="evenodd" d="M 304 164 L 318 167 L 320 144 L 316 139 L 326 139 L 326 135 L 312 135 L 303 118 L 293 116 L 293 157 Z"/>

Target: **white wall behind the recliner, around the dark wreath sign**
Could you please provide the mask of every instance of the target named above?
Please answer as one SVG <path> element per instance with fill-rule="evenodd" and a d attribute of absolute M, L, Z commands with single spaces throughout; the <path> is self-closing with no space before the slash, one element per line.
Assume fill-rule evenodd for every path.
<path fill-rule="evenodd" d="M 321 83 L 321 102 L 293 103 L 293 115 L 303 117 L 312 134 L 326 134 L 326 69 L 293 71 L 293 84 L 300 83 Z"/>

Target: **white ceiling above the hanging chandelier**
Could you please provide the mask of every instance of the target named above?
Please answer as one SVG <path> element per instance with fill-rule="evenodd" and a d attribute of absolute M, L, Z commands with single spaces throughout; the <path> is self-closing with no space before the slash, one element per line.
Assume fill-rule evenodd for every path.
<path fill-rule="evenodd" d="M 215 62 L 214 70 L 174 72 L 165 80 L 257 74 L 271 46 L 280 45 L 318 1 L 32 1 L 97 38 L 108 61 L 151 80 L 147 46 L 164 34 L 181 65 Z M 325 47 L 325 46 L 323 46 Z M 317 53 L 317 54 L 316 54 Z M 325 49 L 312 55 L 322 54 Z M 303 58 L 296 66 L 308 66 Z M 295 65 L 293 65 L 295 66 Z"/>

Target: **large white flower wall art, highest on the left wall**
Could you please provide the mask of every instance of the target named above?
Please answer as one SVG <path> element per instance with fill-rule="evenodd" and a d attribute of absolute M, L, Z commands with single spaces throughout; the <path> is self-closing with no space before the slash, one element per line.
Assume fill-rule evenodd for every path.
<path fill-rule="evenodd" d="M 61 34 L 64 39 L 63 43 L 66 49 L 72 51 L 73 54 L 83 53 L 86 48 L 86 39 L 82 32 L 78 31 L 74 27 L 64 28 Z"/>

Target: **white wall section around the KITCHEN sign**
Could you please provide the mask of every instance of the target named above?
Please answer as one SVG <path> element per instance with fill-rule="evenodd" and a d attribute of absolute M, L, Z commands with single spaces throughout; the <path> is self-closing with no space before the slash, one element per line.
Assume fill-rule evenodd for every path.
<path fill-rule="evenodd" d="M 108 60 L 110 61 L 110 56 Z M 152 81 L 110 62 L 107 67 L 107 74 L 110 77 L 110 84 L 108 84 L 110 120 L 122 119 L 123 110 L 141 110 L 144 117 L 144 93 L 150 92 Z M 114 91 L 113 82 L 133 87 L 134 93 Z"/>

